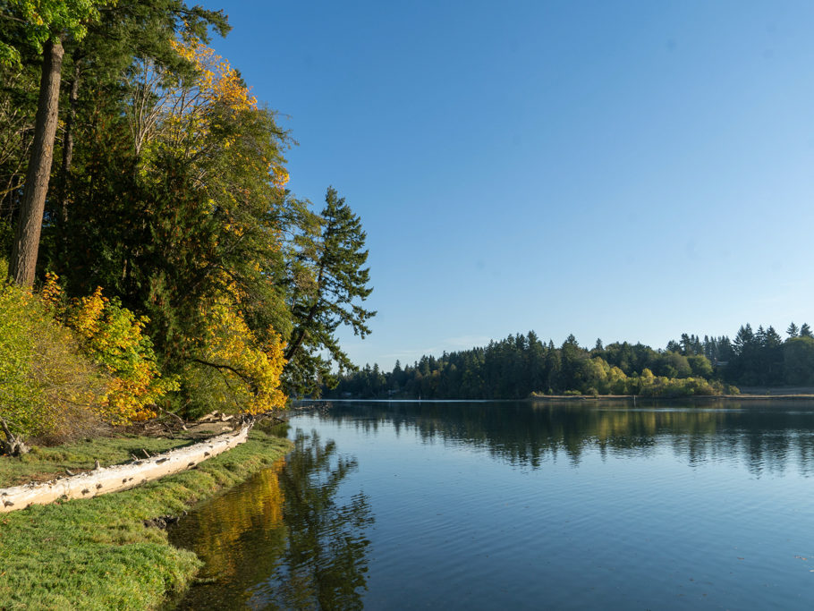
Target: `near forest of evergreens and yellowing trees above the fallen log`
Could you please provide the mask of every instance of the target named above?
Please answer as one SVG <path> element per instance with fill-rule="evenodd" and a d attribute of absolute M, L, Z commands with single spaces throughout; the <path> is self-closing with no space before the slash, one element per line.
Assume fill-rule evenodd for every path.
<path fill-rule="evenodd" d="M 360 217 L 182 0 L 0 2 L 0 425 L 60 441 L 318 393 L 375 312 Z M 4 446 L 5 450 L 11 449 Z"/>

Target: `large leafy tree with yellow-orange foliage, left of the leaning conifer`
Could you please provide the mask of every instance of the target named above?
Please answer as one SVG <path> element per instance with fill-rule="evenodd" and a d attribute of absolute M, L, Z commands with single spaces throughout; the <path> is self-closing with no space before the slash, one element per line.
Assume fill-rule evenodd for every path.
<path fill-rule="evenodd" d="M 140 146 L 126 93 L 82 139 L 65 223 L 72 239 L 55 265 L 71 276 L 70 293 L 99 284 L 148 316 L 187 414 L 213 402 L 276 407 L 292 330 L 277 214 L 287 136 L 223 58 L 197 39 L 168 44 L 192 70 L 154 66 L 166 72 L 154 93 L 172 103 Z M 138 89 L 142 72 L 133 74 L 125 91 Z"/>

